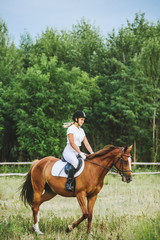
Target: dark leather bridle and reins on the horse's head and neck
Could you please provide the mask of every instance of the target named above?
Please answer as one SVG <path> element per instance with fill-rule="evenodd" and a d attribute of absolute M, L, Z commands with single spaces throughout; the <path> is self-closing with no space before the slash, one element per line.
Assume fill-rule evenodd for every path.
<path fill-rule="evenodd" d="M 123 169 L 123 162 L 124 162 L 123 156 L 125 156 L 125 157 L 130 157 L 130 155 L 127 155 L 127 154 L 123 154 L 123 155 L 122 155 L 122 153 L 123 153 L 123 149 L 122 149 L 122 151 L 121 151 L 121 156 L 117 159 L 117 161 L 116 161 L 116 162 L 113 161 L 113 165 L 114 165 L 114 166 L 116 165 L 116 163 L 117 163 L 118 161 L 120 161 L 120 168 L 121 168 L 122 170 L 112 168 L 113 165 L 112 165 L 111 168 L 109 168 L 109 167 L 103 166 L 103 165 L 101 165 L 101 164 L 99 164 L 99 163 L 92 162 L 92 161 L 89 160 L 89 159 L 85 159 L 85 161 L 90 162 L 90 163 L 92 163 L 92 164 L 94 164 L 94 165 L 97 165 L 97 166 L 99 166 L 99 167 L 105 168 L 105 169 L 108 170 L 108 171 L 109 171 L 109 170 L 112 170 L 112 172 L 117 173 L 117 174 L 121 175 L 121 177 L 123 177 L 126 172 L 132 172 L 132 170 L 124 170 L 124 169 Z"/>

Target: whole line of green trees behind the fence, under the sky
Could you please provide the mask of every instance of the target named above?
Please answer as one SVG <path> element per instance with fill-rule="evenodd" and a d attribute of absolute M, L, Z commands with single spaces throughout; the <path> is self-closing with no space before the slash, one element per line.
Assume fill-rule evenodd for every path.
<path fill-rule="evenodd" d="M 160 161 L 160 21 L 136 13 L 103 36 L 82 18 L 16 47 L 0 20 L 1 161 L 60 157 L 76 110 L 94 151 L 133 144 L 137 161 Z"/>

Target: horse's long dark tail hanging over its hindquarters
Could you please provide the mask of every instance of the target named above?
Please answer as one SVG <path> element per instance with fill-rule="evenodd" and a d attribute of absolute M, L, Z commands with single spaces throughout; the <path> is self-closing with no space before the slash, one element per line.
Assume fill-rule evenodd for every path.
<path fill-rule="evenodd" d="M 32 166 L 27 173 L 26 179 L 24 183 L 20 186 L 19 190 L 20 192 L 20 199 L 24 202 L 25 206 L 29 204 L 32 206 L 33 204 L 33 187 L 32 187 L 32 182 L 31 182 L 31 171 L 33 166 L 38 162 L 39 160 L 34 160 L 32 163 Z"/>

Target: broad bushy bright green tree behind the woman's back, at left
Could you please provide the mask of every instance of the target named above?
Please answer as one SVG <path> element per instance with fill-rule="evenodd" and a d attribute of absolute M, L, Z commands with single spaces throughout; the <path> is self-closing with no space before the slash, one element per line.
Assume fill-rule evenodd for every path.
<path fill-rule="evenodd" d="M 76 109 L 89 108 L 88 88 L 95 81 L 79 68 L 69 71 L 64 64 L 58 66 L 57 57 L 48 60 L 44 54 L 40 64 L 17 77 L 6 99 L 10 104 L 12 99 L 20 159 L 61 156 L 66 144 L 63 122 Z"/>

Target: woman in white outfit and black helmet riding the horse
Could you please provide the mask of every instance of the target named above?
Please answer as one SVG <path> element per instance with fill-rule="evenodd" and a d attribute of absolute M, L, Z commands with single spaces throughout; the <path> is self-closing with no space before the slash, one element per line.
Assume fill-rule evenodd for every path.
<path fill-rule="evenodd" d="M 80 151 L 81 143 L 84 143 L 89 153 L 92 154 L 93 150 L 84 130 L 81 128 L 86 119 L 85 113 L 78 110 L 73 114 L 72 118 L 74 122 L 64 124 L 65 128 L 67 128 L 67 145 L 63 151 L 63 158 L 71 164 L 65 188 L 68 191 L 74 192 L 73 179 L 79 163 L 77 156 L 80 155 L 83 160 L 86 159 L 86 155 Z"/>

